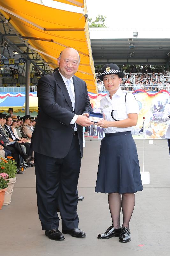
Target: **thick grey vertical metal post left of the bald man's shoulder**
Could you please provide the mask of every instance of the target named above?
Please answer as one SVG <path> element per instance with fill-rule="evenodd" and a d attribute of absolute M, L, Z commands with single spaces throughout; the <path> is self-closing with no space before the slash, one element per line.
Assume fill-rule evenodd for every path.
<path fill-rule="evenodd" d="M 30 60 L 26 60 L 26 115 L 29 115 Z"/>

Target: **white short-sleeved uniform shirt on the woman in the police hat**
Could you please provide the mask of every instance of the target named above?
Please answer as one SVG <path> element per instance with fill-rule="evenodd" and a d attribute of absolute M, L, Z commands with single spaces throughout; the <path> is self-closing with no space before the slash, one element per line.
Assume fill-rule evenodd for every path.
<path fill-rule="evenodd" d="M 100 101 L 100 109 L 101 113 L 105 114 L 105 119 L 107 121 L 114 121 L 111 113 L 114 109 L 113 116 L 117 120 L 124 120 L 128 118 L 128 114 L 130 113 L 137 113 L 139 114 L 139 107 L 135 97 L 132 93 L 128 93 L 126 96 L 126 103 L 125 103 L 125 95 L 126 91 L 122 91 L 121 88 L 117 90 L 117 92 L 112 96 L 112 100 L 109 97 L 109 93 L 107 96 Z M 113 133 L 113 132 L 126 132 L 132 131 L 133 127 L 127 128 L 117 128 L 117 127 L 109 127 L 104 128 L 105 133 Z"/>

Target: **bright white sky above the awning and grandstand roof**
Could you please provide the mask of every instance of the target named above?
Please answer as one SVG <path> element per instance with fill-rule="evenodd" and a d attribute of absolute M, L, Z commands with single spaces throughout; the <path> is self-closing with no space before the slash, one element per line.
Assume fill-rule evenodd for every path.
<path fill-rule="evenodd" d="M 82 8 L 43 0 L 44 5 L 82 13 Z M 88 17 L 106 16 L 106 26 L 113 29 L 170 29 L 170 1 L 86 0 Z M 169 32 L 168 32 L 169 33 Z"/>

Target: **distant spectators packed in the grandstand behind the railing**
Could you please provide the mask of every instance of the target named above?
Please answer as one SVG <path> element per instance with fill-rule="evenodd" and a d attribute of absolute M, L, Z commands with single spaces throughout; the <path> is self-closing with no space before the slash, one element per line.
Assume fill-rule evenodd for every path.
<path fill-rule="evenodd" d="M 150 65 L 147 67 L 137 68 L 135 65 L 123 65 L 122 71 L 125 73 L 121 81 L 122 90 L 135 91 L 143 89 L 147 92 L 159 92 L 161 90 L 170 91 L 170 71 L 155 69 L 152 70 Z M 104 91 L 102 81 L 97 78 L 99 91 Z"/>

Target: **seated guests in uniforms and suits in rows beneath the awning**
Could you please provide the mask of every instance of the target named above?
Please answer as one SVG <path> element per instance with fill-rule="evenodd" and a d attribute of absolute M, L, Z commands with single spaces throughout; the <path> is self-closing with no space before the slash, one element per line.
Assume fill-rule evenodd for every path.
<path fill-rule="evenodd" d="M 13 108 L 8 109 L 8 114 L 0 113 L 0 155 L 15 159 L 17 173 L 34 166 L 30 143 L 35 124 L 36 118 L 30 115 L 16 116 Z"/>

